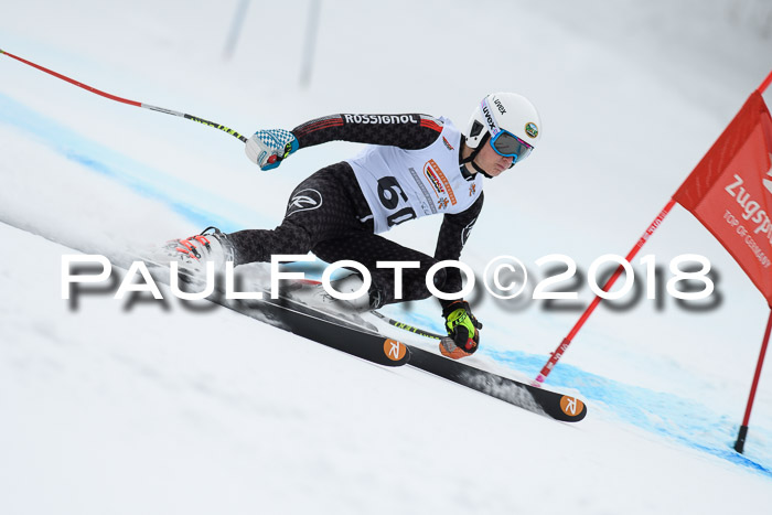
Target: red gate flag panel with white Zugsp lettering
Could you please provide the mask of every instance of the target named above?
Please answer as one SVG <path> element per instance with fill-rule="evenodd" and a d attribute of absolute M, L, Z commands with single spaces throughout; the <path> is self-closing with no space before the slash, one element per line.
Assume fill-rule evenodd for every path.
<path fill-rule="evenodd" d="M 716 236 L 772 307 L 772 119 L 759 92 L 674 199 Z"/>

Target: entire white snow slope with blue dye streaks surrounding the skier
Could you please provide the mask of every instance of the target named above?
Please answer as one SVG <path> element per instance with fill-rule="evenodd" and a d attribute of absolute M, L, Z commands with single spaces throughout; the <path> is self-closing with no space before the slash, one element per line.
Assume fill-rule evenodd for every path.
<path fill-rule="evenodd" d="M 251 2 L 224 61 L 237 3 L 13 2 L 0 47 L 246 133 L 339 111 L 463 126 L 485 93 L 524 93 L 544 143 L 486 189 L 463 258 L 482 270 L 515 255 L 536 277 L 547 254 L 583 269 L 625 254 L 772 67 L 765 2 L 340 0 L 322 4 L 301 88 L 309 2 Z M 490 34 L 504 39 L 483 44 Z M 8 57 L 0 77 L 0 237 L 12 249 L 0 258 L 1 513 L 768 509 L 769 374 L 746 454 L 731 444 L 769 311 L 679 207 L 644 254 L 708 256 L 720 302 L 599 309 L 549 376 L 590 408 L 561 425 L 230 312 L 108 294 L 71 309 L 60 298 L 69 248 L 132 248 L 210 223 L 269 227 L 298 181 L 357 147 L 308 149 L 259 173 L 216 130 Z M 431 251 L 439 219 L 408 225 L 390 237 Z M 474 307 L 485 332 L 471 362 L 521 377 L 579 315 L 484 293 Z M 440 329 L 431 301 L 388 312 Z"/>

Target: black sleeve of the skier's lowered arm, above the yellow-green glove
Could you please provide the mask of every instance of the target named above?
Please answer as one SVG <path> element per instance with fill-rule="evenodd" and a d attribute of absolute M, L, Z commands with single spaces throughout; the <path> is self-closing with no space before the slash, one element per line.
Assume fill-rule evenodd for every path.
<path fill-rule="evenodd" d="M 444 215 L 442 226 L 440 227 L 440 235 L 437 238 L 435 259 L 438 261 L 443 261 L 446 259 L 458 260 L 459 257 L 461 257 L 461 250 L 463 249 L 467 239 L 469 239 L 469 235 L 472 232 L 472 227 L 474 227 L 474 223 L 478 221 L 478 216 L 482 211 L 484 193 L 480 193 L 480 197 L 465 211 L 454 215 Z M 460 291 L 462 287 L 461 270 L 450 267 L 446 268 L 444 270 L 448 276 L 441 290 L 444 292 Z M 451 300 L 440 299 L 442 308 L 451 302 Z"/>

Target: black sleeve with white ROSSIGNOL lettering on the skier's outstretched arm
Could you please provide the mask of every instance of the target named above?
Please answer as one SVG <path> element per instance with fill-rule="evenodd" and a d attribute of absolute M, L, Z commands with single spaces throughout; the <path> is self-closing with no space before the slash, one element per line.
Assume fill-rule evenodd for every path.
<path fill-rule="evenodd" d="M 352 141 L 418 150 L 433 143 L 440 132 L 442 121 L 427 115 L 332 115 L 292 129 L 301 149 L 328 141 Z"/>

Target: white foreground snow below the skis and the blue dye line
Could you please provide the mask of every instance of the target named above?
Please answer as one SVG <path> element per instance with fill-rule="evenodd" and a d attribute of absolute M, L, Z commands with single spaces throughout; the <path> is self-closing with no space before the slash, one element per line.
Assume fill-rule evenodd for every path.
<path fill-rule="evenodd" d="M 0 234 L 29 253 L 0 275 L 15 293 L 0 301 L 3 513 L 760 513 L 769 498 L 768 474 L 597 403 L 565 425 L 227 310 L 105 294 L 72 309 L 72 250 Z"/>

